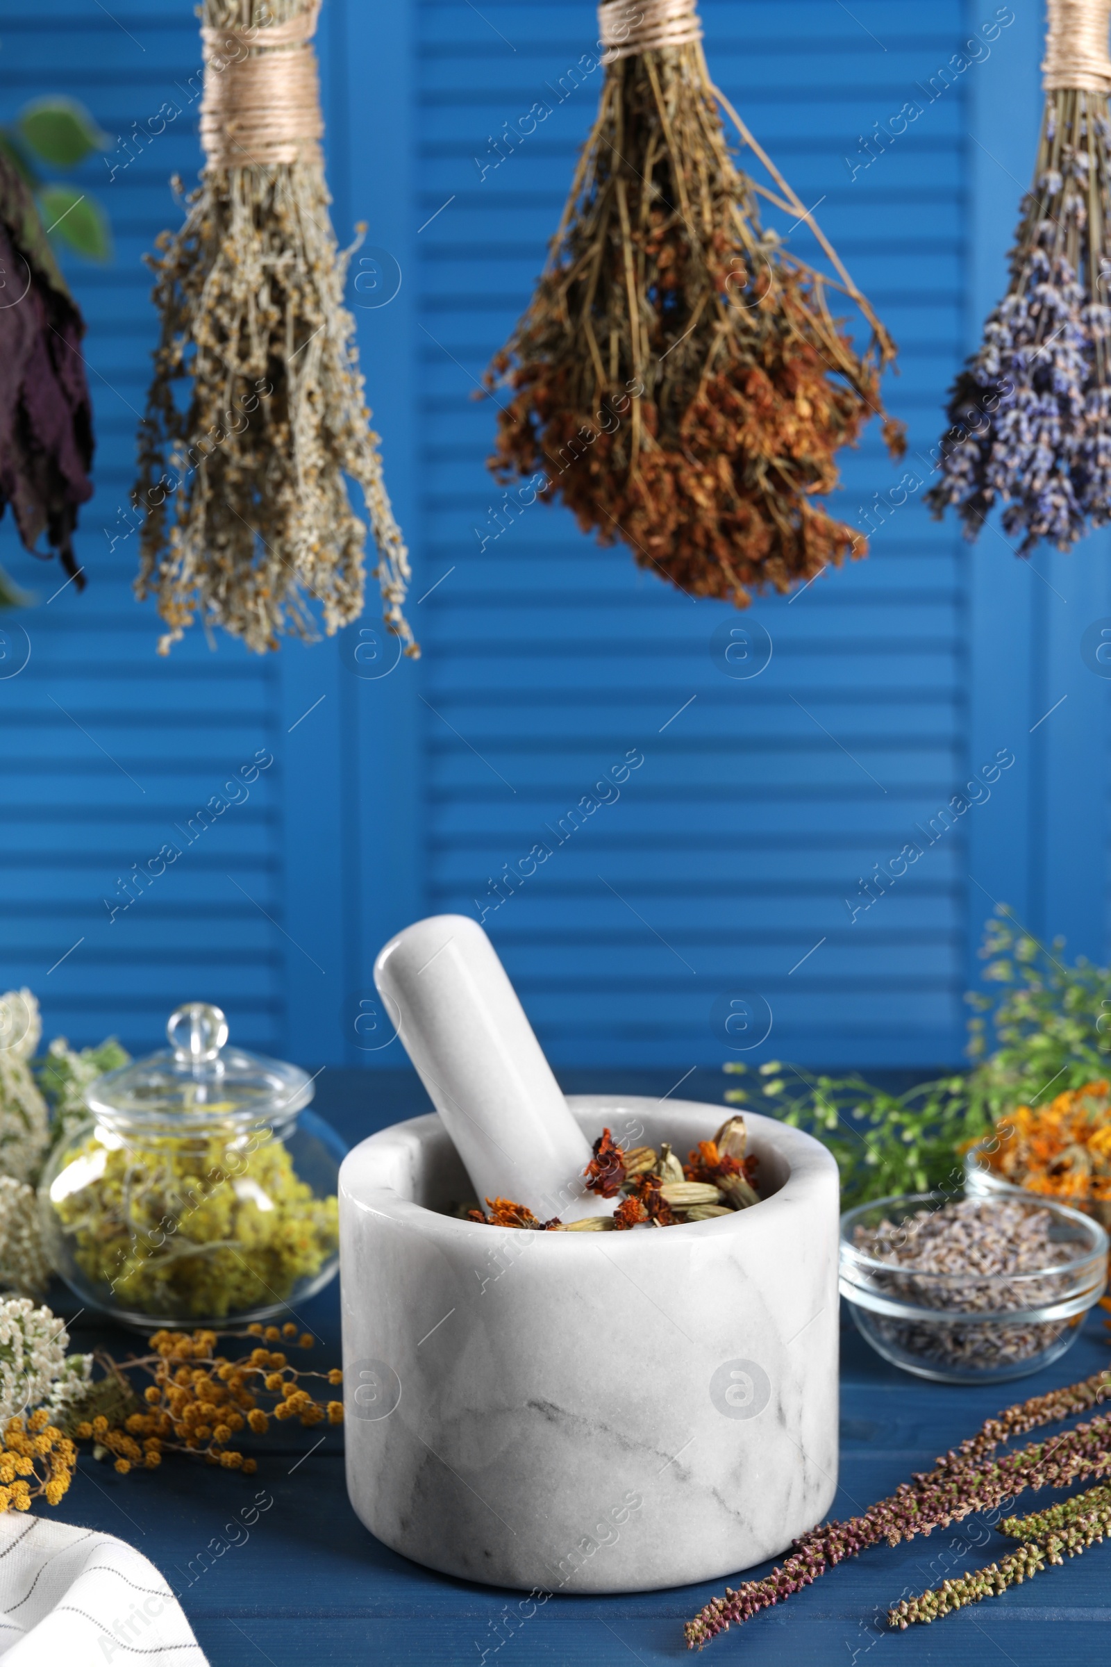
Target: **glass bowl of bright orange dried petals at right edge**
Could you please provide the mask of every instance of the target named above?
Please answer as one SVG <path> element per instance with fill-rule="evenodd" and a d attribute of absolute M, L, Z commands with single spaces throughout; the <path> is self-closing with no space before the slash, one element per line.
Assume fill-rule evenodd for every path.
<path fill-rule="evenodd" d="M 1036 1192 L 1111 1230 L 1111 1085 L 1089 1082 L 1048 1105 L 1018 1105 L 964 1154 L 964 1189 Z"/>

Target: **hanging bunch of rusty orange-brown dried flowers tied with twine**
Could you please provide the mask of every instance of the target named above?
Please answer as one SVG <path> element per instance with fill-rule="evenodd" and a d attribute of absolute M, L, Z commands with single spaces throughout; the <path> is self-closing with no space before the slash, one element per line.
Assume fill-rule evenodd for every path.
<path fill-rule="evenodd" d="M 623 538 L 695 595 L 746 607 L 866 540 L 823 505 L 836 452 L 879 408 L 894 347 L 811 215 L 710 80 L 695 0 L 600 7 L 606 80 L 531 305 L 486 375 L 505 388 L 501 480 L 540 477 L 600 543 Z M 778 190 L 738 172 L 736 123 Z M 805 220 L 839 282 L 763 230 Z M 858 353 L 830 310 L 871 327 Z M 884 420 L 893 455 L 901 427 Z"/>

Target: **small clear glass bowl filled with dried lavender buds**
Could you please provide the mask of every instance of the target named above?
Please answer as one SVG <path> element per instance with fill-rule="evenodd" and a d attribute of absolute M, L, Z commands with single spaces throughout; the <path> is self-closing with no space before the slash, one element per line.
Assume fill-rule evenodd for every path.
<path fill-rule="evenodd" d="M 1104 1292 L 1108 1235 L 1018 1189 L 916 1192 L 841 1217 L 841 1295 L 876 1354 L 938 1384 L 1026 1377 Z"/>

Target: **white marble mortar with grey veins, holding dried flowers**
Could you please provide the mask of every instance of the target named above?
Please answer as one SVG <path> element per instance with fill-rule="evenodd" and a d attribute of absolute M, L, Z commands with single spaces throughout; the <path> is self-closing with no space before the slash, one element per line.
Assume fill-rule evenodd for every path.
<path fill-rule="evenodd" d="M 725 1115 L 568 1104 L 591 1140 L 683 1155 Z M 346 1480 L 371 1534 L 466 1580 L 643 1592 L 748 1569 L 828 1514 L 838 1172 L 801 1130 L 745 1119 L 761 1204 L 628 1234 L 438 1214 L 471 1189 L 436 1115 L 348 1154 Z"/>

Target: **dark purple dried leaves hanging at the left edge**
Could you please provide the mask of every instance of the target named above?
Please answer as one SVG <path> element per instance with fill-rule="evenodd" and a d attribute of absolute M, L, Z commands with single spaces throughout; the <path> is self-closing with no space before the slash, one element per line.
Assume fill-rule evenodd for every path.
<path fill-rule="evenodd" d="M 57 552 L 78 588 L 73 530 L 93 490 L 83 335 L 35 200 L 0 150 L 0 515 L 10 503 L 23 545 Z M 37 548 L 43 533 L 50 552 Z M 0 575 L 0 605 L 22 600 Z"/>

